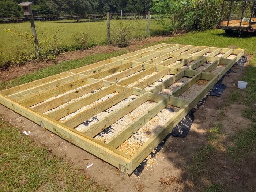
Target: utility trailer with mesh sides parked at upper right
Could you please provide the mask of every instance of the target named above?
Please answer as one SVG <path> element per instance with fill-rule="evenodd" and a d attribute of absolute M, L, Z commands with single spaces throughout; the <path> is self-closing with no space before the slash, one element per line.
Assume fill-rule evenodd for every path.
<path fill-rule="evenodd" d="M 256 31 L 256 0 L 224 0 L 216 28 L 226 33 Z"/>

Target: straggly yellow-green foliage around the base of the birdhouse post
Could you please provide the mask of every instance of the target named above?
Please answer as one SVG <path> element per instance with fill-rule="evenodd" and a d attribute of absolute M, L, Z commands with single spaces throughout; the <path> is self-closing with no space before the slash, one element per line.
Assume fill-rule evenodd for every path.
<path fill-rule="evenodd" d="M 54 61 L 56 56 L 63 52 L 59 43 L 59 38 L 57 37 L 58 31 L 52 30 L 52 37 L 46 36 L 45 32 L 43 32 L 43 41 L 38 42 L 38 45 L 35 44 L 33 34 L 27 32 L 25 34 L 20 32 L 15 33 L 15 31 L 10 29 L 5 29 L 5 32 L 24 40 L 23 45 L 16 49 L 17 51 L 15 54 L 12 54 L 10 60 L 11 64 L 24 64 L 33 61 L 37 57 L 43 61 Z M 27 51 L 26 47 L 28 44 L 32 44 L 35 49 Z"/>

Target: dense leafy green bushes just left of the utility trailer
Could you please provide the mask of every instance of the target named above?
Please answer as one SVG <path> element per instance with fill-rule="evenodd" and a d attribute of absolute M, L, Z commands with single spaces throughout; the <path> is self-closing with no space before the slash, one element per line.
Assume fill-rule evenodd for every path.
<path fill-rule="evenodd" d="M 165 14 L 160 19 L 170 32 L 178 30 L 206 30 L 217 24 L 222 0 L 153 0 L 151 10 Z"/>

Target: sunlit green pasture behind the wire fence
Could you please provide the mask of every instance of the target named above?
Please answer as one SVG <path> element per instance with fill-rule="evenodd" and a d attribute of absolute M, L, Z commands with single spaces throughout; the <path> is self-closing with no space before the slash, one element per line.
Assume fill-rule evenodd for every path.
<path fill-rule="evenodd" d="M 122 23 L 131 23 L 134 36 L 140 33 L 143 36 L 147 34 L 147 20 L 131 20 L 126 21 L 123 20 Z M 120 21 L 111 20 L 110 21 L 110 29 L 111 26 L 120 25 Z M 106 44 L 107 37 L 107 26 L 106 21 L 100 22 L 81 22 L 81 23 L 62 23 L 61 21 L 55 22 L 42 22 L 36 21 L 35 27 L 37 30 L 38 41 L 42 41 L 42 33 L 45 32 L 46 36 L 52 36 L 52 30 L 59 30 L 58 37 L 61 45 L 66 47 L 67 49 L 72 49 L 74 47 L 73 36 L 76 33 L 86 32 L 91 37 L 94 38 L 96 45 Z M 138 27 L 140 29 L 138 29 Z M 4 60 L 7 61 L 11 54 L 15 53 L 17 49 L 24 44 L 25 39 L 21 39 L 20 37 L 16 37 L 11 35 L 10 33 L 5 32 L 5 29 L 10 29 L 15 31 L 16 33 L 19 31 L 20 33 L 25 34 L 26 32 L 31 33 L 30 22 L 24 23 L 12 23 L 12 24 L 0 24 L 0 52 L 3 53 Z M 163 34 L 167 31 L 163 28 L 163 26 L 158 25 L 156 21 L 151 20 L 150 23 L 150 33 L 151 35 Z M 27 45 L 27 44 L 26 44 Z M 24 46 L 22 46 L 23 48 Z M 33 49 L 32 45 L 28 45 L 25 49 Z"/>

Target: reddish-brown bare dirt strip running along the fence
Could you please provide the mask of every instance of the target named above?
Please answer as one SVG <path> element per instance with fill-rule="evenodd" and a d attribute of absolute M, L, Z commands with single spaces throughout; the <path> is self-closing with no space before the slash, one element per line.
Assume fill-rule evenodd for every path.
<path fill-rule="evenodd" d="M 13 78 L 17 78 L 21 75 L 25 75 L 31 72 L 36 71 L 40 68 L 46 68 L 51 65 L 56 65 L 61 61 L 67 61 L 71 59 L 82 59 L 86 56 L 90 56 L 92 54 L 101 54 L 101 53 L 112 53 L 117 50 L 128 50 L 128 52 L 133 52 L 139 50 L 141 46 L 147 45 L 154 42 L 164 41 L 170 38 L 170 36 L 155 36 L 149 38 L 143 38 L 141 41 L 133 40 L 131 45 L 127 48 L 119 48 L 113 45 L 98 45 L 93 48 L 89 48 L 87 50 L 78 50 L 78 51 L 71 51 L 64 54 L 60 54 L 56 58 L 56 62 L 53 61 L 41 61 L 38 63 L 27 63 L 21 66 L 15 65 L 9 68 L 0 68 L 0 81 L 8 81 Z"/>

